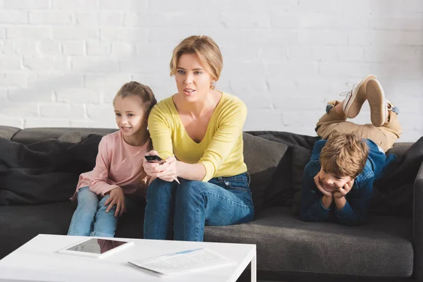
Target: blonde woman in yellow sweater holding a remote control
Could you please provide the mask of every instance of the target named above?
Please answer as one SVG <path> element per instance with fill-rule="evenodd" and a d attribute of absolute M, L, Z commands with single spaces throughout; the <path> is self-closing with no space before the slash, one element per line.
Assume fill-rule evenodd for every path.
<path fill-rule="evenodd" d="M 156 179 L 147 190 L 144 237 L 202 241 L 204 225 L 253 219 L 250 176 L 243 158 L 245 104 L 214 89 L 223 59 L 207 36 L 183 39 L 173 50 L 178 92 L 154 106 L 149 132 L 163 164 L 144 161 Z"/>

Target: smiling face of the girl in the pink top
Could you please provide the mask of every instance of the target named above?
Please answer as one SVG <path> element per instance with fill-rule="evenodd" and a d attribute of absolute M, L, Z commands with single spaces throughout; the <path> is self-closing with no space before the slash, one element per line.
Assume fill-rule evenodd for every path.
<path fill-rule="evenodd" d="M 117 97 L 114 102 L 116 124 L 124 137 L 130 137 L 147 130 L 147 118 L 138 97 Z M 127 140 L 126 140 L 127 141 Z"/>

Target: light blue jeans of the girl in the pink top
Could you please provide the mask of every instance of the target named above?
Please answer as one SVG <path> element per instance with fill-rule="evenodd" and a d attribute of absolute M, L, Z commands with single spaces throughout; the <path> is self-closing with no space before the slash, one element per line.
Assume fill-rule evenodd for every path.
<path fill-rule="evenodd" d="M 116 205 L 109 212 L 108 206 L 104 205 L 110 195 L 99 199 L 99 196 L 88 187 L 78 190 L 78 207 L 72 216 L 71 226 L 68 235 L 114 237 L 118 226 L 118 217 L 114 216 Z M 133 209 L 139 204 L 137 201 L 125 197 L 126 210 Z"/>

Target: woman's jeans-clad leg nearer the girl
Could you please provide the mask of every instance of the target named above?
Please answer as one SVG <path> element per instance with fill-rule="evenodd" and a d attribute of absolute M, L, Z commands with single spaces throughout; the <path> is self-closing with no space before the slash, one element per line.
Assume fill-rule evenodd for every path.
<path fill-rule="evenodd" d="M 147 189 L 144 216 L 144 238 L 166 240 L 171 238 L 176 181 L 156 178 Z"/>

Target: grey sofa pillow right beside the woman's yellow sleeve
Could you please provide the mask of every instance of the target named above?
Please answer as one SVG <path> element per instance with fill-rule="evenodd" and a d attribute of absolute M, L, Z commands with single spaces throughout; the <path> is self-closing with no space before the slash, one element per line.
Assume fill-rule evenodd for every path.
<path fill-rule="evenodd" d="M 266 204 L 264 201 L 269 190 L 269 184 L 288 145 L 248 133 L 243 133 L 243 140 L 244 161 L 251 176 L 252 200 L 257 210 Z"/>

